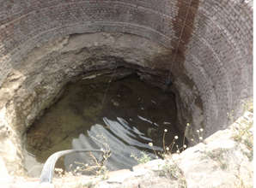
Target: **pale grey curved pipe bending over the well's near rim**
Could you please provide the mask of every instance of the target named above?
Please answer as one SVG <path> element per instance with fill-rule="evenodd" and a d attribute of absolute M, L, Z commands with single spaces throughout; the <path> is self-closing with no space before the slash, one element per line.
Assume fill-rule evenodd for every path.
<path fill-rule="evenodd" d="M 40 184 L 41 183 L 52 183 L 52 177 L 54 172 L 55 163 L 58 161 L 58 159 L 61 156 L 70 154 L 70 153 L 76 153 L 76 152 L 102 152 L 102 150 L 62 150 L 58 151 L 52 156 L 49 156 L 49 158 L 46 160 L 46 163 L 42 169 L 41 175 L 40 175 Z"/>

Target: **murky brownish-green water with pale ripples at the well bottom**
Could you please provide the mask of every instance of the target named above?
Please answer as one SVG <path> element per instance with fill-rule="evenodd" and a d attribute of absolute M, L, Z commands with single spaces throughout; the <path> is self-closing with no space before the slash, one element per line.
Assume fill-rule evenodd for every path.
<path fill-rule="evenodd" d="M 58 150 L 95 150 L 104 148 L 104 144 L 112 151 L 107 160 L 109 170 L 131 168 L 137 164 L 131 154 L 141 156 L 146 151 L 155 158 L 150 142 L 156 152 L 162 151 L 164 129 L 168 129 L 166 144 L 171 144 L 175 135 L 182 139 L 174 126 L 172 93 L 143 83 L 135 75 L 110 84 L 108 81 L 100 78 L 67 85 L 64 96 L 27 132 L 28 171 L 41 167 Z M 91 160 L 84 154 L 65 156 L 57 167 L 68 170 L 74 161 Z"/>

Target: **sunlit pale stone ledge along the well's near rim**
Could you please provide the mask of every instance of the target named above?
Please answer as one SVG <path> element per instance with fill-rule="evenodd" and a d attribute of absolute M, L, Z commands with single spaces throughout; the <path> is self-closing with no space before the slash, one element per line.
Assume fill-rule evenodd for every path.
<path fill-rule="evenodd" d="M 153 160 L 128 169 L 99 176 L 66 174 L 53 184 L 39 179 L 10 176 L 1 162 L 4 187 L 253 187 L 253 110 L 225 130 L 165 160 Z"/>

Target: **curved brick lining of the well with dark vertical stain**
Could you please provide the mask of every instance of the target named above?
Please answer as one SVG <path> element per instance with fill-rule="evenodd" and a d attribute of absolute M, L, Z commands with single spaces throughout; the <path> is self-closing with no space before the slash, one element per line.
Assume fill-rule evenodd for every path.
<path fill-rule="evenodd" d="M 241 99 L 253 96 L 251 4 L 240 0 L 192 0 L 191 6 L 190 0 L 0 0 L 0 85 L 30 50 L 51 38 L 128 32 L 162 44 L 173 56 L 177 51 L 178 57 L 170 58 L 174 77 L 179 77 L 175 68 L 182 65 L 204 104 L 204 123 L 214 132 L 227 124 L 227 112 L 240 109 Z"/>

